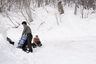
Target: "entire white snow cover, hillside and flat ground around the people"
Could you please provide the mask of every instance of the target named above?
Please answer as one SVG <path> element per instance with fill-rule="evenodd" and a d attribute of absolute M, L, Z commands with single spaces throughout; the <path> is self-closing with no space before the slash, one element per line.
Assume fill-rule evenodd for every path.
<path fill-rule="evenodd" d="M 72 8 L 65 7 L 65 14 L 61 15 L 60 21 L 56 9 L 46 9 L 47 11 L 43 8 L 34 11 L 34 21 L 30 27 L 33 36 L 40 36 L 43 46 L 33 49 L 33 53 L 29 54 L 16 48 L 23 26 L 10 28 L 12 24 L 8 18 L 1 19 L 0 64 L 96 64 L 96 14 L 82 19 L 73 14 Z M 9 13 L 12 18 L 19 23 L 23 21 L 20 13 L 17 16 L 15 13 L 11 15 L 12 13 Z M 17 18 L 18 15 L 20 19 Z M 43 24 L 39 26 L 41 23 Z M 14 46 L 5 40 L 6 36 L 15 41 Z"/>

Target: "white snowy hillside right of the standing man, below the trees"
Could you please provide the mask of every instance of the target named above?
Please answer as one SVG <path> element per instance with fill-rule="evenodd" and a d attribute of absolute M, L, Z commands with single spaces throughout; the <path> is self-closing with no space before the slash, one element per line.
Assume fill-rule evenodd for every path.
<path fill-rule="evenodd" d="M 47 10 L 47 11 L 46 11 Z M 88 18 L 81 18 L 80 12 L 74 15 L 73 8 L 65 7 L 65 13 L 60 15 L 57 9 L 46 7 L 36 9 L 34 21 L 31 24 L 33 34 L 43 38 L 55 39 L 89 39 L 96 36 L 96 14 L 90 14 Z M 58 17 L 58 23 L 56 15 Z M 55 36 L 55 37 L 54 37 Z"/>

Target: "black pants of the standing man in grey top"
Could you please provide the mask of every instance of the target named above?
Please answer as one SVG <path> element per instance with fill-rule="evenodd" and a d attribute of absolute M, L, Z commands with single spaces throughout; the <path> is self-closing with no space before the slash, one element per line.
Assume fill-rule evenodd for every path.
<path fill-rule="evenodd" d="M 28 45 L 29 52 L 32 52 L 32 51 L 33 51 L 33 50 L 32 50 L 32 47 L 31 47 L 32 38 L 33 38 L 32 34 L 31 34 L 31 33 L 28 33 L 28 34 L 27 34 L 27 40 L 26 40 L 25 44 L 24 44 L 23 47 L 22 47 L 22 49 L 23 49 L 24 51 L 27 50 L 27 49 L 26 49 L 26 45 Z"/>

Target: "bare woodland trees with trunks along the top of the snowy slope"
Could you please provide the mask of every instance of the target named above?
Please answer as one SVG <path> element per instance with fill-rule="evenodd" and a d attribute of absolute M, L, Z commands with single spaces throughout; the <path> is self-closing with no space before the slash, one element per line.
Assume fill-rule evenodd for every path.
<path fill-rule="evenodd" d="M 68 7 L 70 7 L 73 4 L 75 4 L 75 15 L 77 15 L 77 9 L 82 8 L 82 18 L 83 11 L 85 9 L 93 9 L 94 11 L 96 9 L 96 0 L 0 0 L 0 13 L 6 13 L 7 17 L 12 22 L 11 18 L 8 15 L 8 11 L 19 10 L 26 21 L 29 23 L 33 21 L 32 10 L 34 11 L 34 8 L 45 7 L 49 5 L 50 7 L 58 8 L 60 14 L 64 14 L 64 6 L 67 5 Z M 23 11 L 25 11 L 26 13 Z"/>

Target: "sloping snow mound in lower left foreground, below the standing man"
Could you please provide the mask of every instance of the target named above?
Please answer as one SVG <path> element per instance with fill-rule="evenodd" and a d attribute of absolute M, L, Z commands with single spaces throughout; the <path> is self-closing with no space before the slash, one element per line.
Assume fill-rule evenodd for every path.
<path fill-rule="evenodd" d="M 0 26 L 0 64 L 31 64 L 33 61 L 26 59 L 28 54 L 9 44 L 6 36 L 6 29 Z"/>

